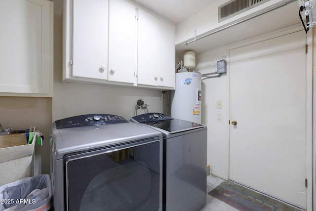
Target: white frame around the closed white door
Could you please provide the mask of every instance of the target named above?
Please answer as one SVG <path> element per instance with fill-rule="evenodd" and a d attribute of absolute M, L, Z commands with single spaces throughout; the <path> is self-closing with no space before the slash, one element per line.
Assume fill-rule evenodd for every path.
<path fill-rule="evenodd" d="M 284 36 L 290 33 L 294 33 L 297 31 L 304 30 L 301 24 L 297 24 L 291 27 L 287 27 L 285 29 L 278 30 L 276 32 L 268 33 L 250 40 L 246 42 L 239 42 L 236 45 L 232 45 L 228 47 L 228 52 L 231 49 L 242 47 L 245 45 L 253 44 L 256 42 L 262 42 L 265 40 L 273 39 L 276 37 Z M 316 199 L 313 200 L 313 193 L 315 195 L 316 191 L 316 179 L 313 178 L 313 171 L 316 169 L 316 162 L 313 162 L 313 158 L 316 158 L 316 153 L 313 153 L 313 35 L 314 30 L 310 30 L 306 35 L 306 44 L 309 46 L 308 52 L 306 54 L 306 179 L 308 181 L 308 185 L 306 188 L 306 210 L 312 211 L 313 207 L 315 207 Z M 304 50 L 302 48 L 302 50 Z M 228 71 L 230 71 L 229 58 L 228 58 Z M 229 74 L 229 85 L 231 82 L 231 77 Z M 231 93 L 229 88 L 229 117 L 231 115 Z M 231 128 L 231 127 L 230 127 Z M 230 145 L 230 130 L 229 130 L 229 145 Z M 228 152 L 228 156 L 230 157 L 230 152 Z M 314 165 L 313 165 L 314 163 Z M 315 172 L 314 172 L 315 173 Z M 315 175 L 315 174 L 314 174 Z M 228 178 L 230 178 L 230 172 L 228 168 Z M 314 205 L 313 205 L 314 204 Z"/>

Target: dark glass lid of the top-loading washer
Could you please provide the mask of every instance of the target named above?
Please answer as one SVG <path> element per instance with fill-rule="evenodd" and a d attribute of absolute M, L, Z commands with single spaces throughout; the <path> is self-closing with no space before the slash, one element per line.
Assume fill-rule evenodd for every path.
<path fill-rule="evenodd" d="M 143 122 L 142 124 L 157 127 L 159 129 L 169 132 L 170 134 L 205 127 L 201 124 L 178 119 L 163 120 L 156 122 Z"/>

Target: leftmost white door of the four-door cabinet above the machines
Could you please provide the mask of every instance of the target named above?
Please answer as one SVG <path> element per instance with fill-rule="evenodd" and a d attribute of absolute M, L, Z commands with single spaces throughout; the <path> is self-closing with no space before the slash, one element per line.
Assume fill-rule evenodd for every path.
<path fill-rule="evenodd" d="M 108 0 L 73 0 L 73 73 L 107 80 Z"/>

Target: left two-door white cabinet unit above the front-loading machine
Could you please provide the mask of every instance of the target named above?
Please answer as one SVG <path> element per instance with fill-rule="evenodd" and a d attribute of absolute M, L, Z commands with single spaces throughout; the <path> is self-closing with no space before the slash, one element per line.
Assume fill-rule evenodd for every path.
<path fill-rule="evenodd" d="M 134 84 L 135 6 L 125 0 L 64 1 L 63 79 Z"/>

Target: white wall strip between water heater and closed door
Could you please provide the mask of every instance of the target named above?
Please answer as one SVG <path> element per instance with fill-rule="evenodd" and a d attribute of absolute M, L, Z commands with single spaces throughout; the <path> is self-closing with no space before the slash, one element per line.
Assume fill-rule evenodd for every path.
<path fill-rule="evenodd" d="M 216 71 L 216 62 L 228 55 L 227 48 L 197 54 L 196 71 L 201 74 Z M 229 72 L 219 78 L 202 78 L 202 124 L 207 126 L 207 163 L 211 173 L 228 179 L 229 166 Z M 217 109 L 217 101 L 222 109 Z M 222 120 L 217 120 L 217 115 Z"/>

